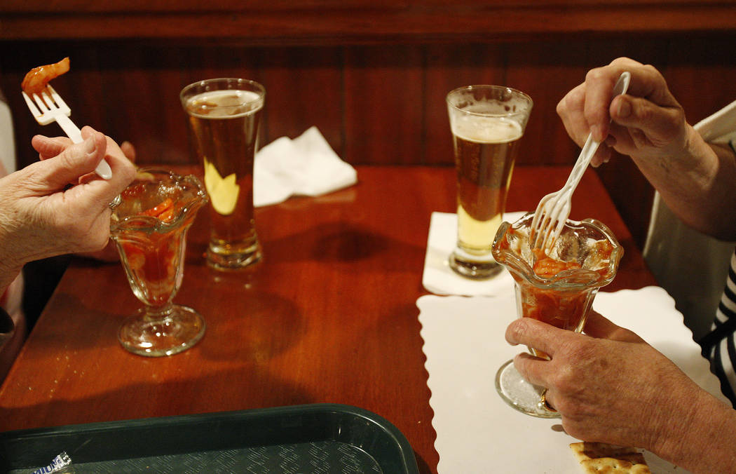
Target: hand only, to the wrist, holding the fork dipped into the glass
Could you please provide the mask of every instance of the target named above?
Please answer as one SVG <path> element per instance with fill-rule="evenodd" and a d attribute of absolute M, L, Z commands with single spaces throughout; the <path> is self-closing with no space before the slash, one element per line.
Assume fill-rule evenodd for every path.
<path fill-rule="evenodd" d="M 631 73 L 629 91 L 611 101 L 623 71 Z M 585 82 L 559 102 L 557 113 L 578 146 L 589 132 L 601 142 L 592 166 L 608 161 L 611 148 L 634 160 L 683 155 L 693 132 L 662 74 L 626 57 L 588 71 Z"/>

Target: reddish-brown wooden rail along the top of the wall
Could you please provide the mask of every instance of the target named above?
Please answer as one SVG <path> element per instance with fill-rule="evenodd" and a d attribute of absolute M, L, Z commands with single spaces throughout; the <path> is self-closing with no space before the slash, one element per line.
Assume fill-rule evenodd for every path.
<path fill-rule="evenodd" d="M 518 40 L 530 35 L 732 31 L 732 0 L 24 0 L 0 38 L 199 38 L 253 43 Z"/>

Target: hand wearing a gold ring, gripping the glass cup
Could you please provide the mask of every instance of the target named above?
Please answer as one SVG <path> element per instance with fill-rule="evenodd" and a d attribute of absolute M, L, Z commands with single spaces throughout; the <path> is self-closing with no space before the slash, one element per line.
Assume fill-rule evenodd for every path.
<path fill-rule="evenodd" d="M 547 400 L 571 436 L 657 452 L 670 441 L 673 420 L 687 426 L 687 409 L 701 389 L 662 353 L 604 316 L 591 312 L 585 331 L 515 320 L 506 340 L 544 350 L 551 361 L 522 353 L 514 367 L 548 387 Z"/>

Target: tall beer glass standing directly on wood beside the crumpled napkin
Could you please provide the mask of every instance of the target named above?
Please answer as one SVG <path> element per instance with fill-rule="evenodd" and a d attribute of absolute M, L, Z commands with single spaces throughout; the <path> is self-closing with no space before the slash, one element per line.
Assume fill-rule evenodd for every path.
<path fill-rule="evenodd" d="M 208 79 L 183 88 L 180 98 L 210 195 L 208 264 L 227 270 L 256 263 L 253 160 L 266 89 L 247 79 Z"/>

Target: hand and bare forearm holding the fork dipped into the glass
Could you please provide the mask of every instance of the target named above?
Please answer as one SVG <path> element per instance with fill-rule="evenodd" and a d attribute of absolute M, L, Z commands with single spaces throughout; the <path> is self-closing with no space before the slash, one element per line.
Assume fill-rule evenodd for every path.
<path fill-rule="evenodd" d="M 623 71 L 631 73 L 629 91 L 611 101 Z M 557 113 L 578 145 L 589 131 L 605 140 L 593 166 L 607 161 L 611 149 L 629 155 L 685 224 L 722 240 L 736 238 L 736 219 L 723 218 L 736 213 L 736 156 L 709 146 L 687 124 L 682 106 L 653 66 L 621 57 L 592 69 L 559 102 Z"/>

